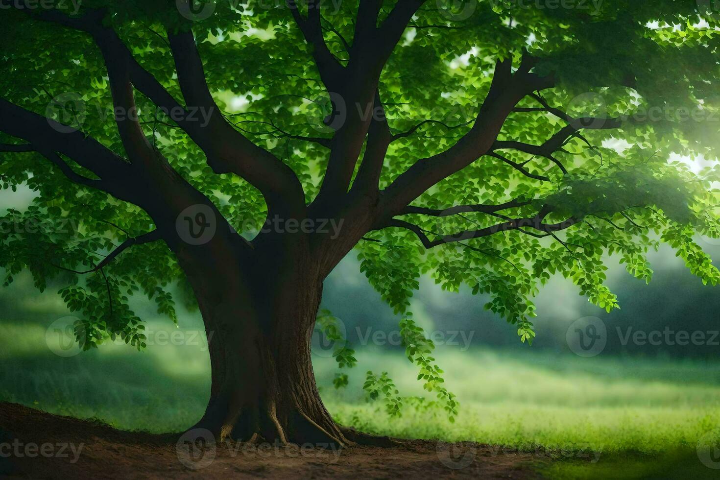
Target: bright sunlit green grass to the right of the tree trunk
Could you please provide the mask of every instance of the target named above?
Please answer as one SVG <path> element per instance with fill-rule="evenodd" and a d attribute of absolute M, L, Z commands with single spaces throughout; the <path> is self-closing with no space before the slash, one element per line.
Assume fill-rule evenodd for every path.
<path fill-rule="evenodd" d="M 391 371 L 401 391 L 422 391 L 402 358 L 359 360 Z M 326 394 L 328 408 L 374 433 L 474 440 L 553 458 L 559 462 L 541 467 L 550 478 L 717 478 L 696 450 L 698 439 L 720 426 L 718 363 L 492 350 L 440 352 L 438 361 L 462 402 L 454 424 L 442 412 L 413 407 L 392 419 L 354 397 L 352 384 L 342 395 Z"/>

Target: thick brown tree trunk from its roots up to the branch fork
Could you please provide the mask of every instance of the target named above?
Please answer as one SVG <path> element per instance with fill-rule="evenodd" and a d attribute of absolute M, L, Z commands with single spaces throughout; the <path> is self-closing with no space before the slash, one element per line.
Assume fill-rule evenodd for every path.
<path fill-rule="evenodd" d="M 342 447 L 352 442 L 325 409 L 310 358 L 322 281 L 287 260 L 250 268 L 251 278 L 230 259 L 212 275 L 207 263 L 197 271 L 197 261 L 181 260 L 210 338 L 210 402 L 194 428 L 218 440 Z"/>

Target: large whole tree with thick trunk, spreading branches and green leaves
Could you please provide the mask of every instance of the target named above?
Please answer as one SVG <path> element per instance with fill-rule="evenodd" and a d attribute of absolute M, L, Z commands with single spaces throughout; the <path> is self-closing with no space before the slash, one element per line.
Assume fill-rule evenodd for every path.
<path fill-rule="evenodd" d="M 175 319 L 179 284 L 212 333 L 198 426 L 222 437 L 361 440 L 310 361 L 323 279 L 354 249 L 397 312 L 429 273 L 490 294 L 523 341 L 554 273 L 616 307 L 608 254 L 649 279 L 665 241 L 720 278 L 693 241 L 719 236 L 719 171 L 683 160 L 719 152 L 713 2 L 0 6 L 0 176 L 35 192 L 3 219 L 6 283 L 64 282 L 85 348 L 143 348 L 131 294 Z"/>

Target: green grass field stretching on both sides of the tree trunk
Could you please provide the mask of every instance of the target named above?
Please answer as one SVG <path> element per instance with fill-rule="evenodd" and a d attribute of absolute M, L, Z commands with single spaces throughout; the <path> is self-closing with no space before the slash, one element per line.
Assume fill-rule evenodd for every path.
<path fill-rule="evenodd" d="M 202 345 L 120 345 L 59 358 L 45 330 L 1 324 L 1 398 L 123 429 L 177 431 L 202 415 L 207 353 Z M 35 330 L 34 330 L 35 329 Z M 438 348 L 446 386 L 461 412 L 451 423 L 432 406 L 390 417 L 369 402 L 364 372 L 387 371 L 403 396 L 423 394 L 398 350 L 363 350 L 351 382 L 336 391 L 331 358 L 316 358 L 321 394 L 346 425 L 400 438 L 474 440 L 534 453 L 551 478 L 715 478 L 696 445 L 720 427 L 720 362 L 579 358 L 523 350 Z M 426 399 L 426 403 L 433 400 Z M 500 450 L 502 451 L 502 450 Z M 546 466 L 543 461 L 557 462 Z"/>

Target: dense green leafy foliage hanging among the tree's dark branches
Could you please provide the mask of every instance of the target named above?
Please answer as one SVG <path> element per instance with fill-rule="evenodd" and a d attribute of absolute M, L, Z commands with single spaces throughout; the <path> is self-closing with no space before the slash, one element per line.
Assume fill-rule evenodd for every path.
<path fill-rule="evenodd" d="M 357 3 L 328 1 L 321 10 L 325 42 L 341 63 L 353 37 Z M 380 22 L 395 3 L 384 2 Z M 555 86 L 522 99 L 498 141 L 545 145 L 568 117 L 581 128 L 546 155 L 499 145 L 493 155 L 482 156 L 413 201 L 439 210 L 513 199 L 521 205 L 513 213 L 403 218 L 428 237 L 443 238 L 498 221 L 533 218 L 549 204 L 553 209 L 544 222 L 568 225 L 562 232 L 540 234 L 531 225 L 478 238 L 459 234 L 429 251 L 410 230 L 370 232 L 356 250 L 362 270 L 383 299 L 410 318 L 409 299 L 421 273 L 449 291 L 466 284 L 474 293 L 490 294 L 487 309 L 516 325 L 521 340 L 529 343 L 535 335 L 532 299 L 554 273 L 571 279 L 598 307 L 618 307 L 603 284 L 606 254 L 621 255 L 632 275 L 649 281 L 652 269 L 645 254 L 662 241 L 704 282 L 718 283 L 720 272 L 693 235 L 720 237 L 714 210 L 720 203 L 714 188 L 720 169 L 693 171 L 687 161 L 712 161 L 720 153 L 720 31 L 714 12 L 698 9 L 694 0 L 570 1 L 572 8 L 503 0 L 464 1 L 459 9 L 446 4 L 428 1 L 418 10 L 380 77 L 387 120 L 399 134 L 384 159 L 381 189 L 463 137 L 490 91 L 499 60 L 511 59 L 517 67 L 523 55 L 531 55 L 534 71 L 552 76 Z M 166 30 L 189 23 L 176 2 L 87 0 L 79 12 L 68 2 L 65 13 L 73 16 L 99 6 L 107 7 L 104 22 L 138 62 L 181 98 L 165 38 Z M 212 114 L 225 115 L 246 137 L 287 163 L 312 201 L 328 163 L 323 143 L 333 136 L 323 124 L 330 101 L 292 12 L 285 2 L 205 6 L 212 14 L 197 18 L 192 29 L 207 82 L 222 109 Z M 36 13 L 0 12 L 4 34 L 14 39 L 0 53 L 4 99 L 70 124 L 123 155 L 106 67 L 91 37 L 39 21 L 33 18 Z M 258 191 L 237 176 L 213 173 L 173 119 L 139 92 L 136 101 L 152 144 L 212 199 L 238 232 L 253 237 L 267 212 Z M 0 142 L 17 139 L 0 134 Z M 168 286 L 178 282 L 187 288 L 163 243 L 130 248 L 89 275 L 73 272 L 95 266 L 113 245 L 150 230 L 145 212 L 73 184 L 38 153 L 1 155 L 2 187 L 26 185 L 37 194 L 30 209 L 11 210 L 2 219 L 5 284 L 24 269 L 41 290 L 48 280 L 63 279 L 63 299 L 83 316 L 79 340 L 86 348 L 116 335 L 143 348 L 143 325 L 128 306 L 132 294 L 154 299 L 158 312 L 176 320 Z M 192 304 L 192 296 L 186 297 Z M 420 335 L 404 338 L 408 358 L 420 367 L 418 378 L 425 379 L 428 391 L 448 397 L 427 356 L 431 348 L 408 322 L 403 330 Z M 341 351 L 338 363 L 351 366 L 352 353 Z M 370 386 L 382 383 L 382 376 L 368 381 Z M 346 382 L 340 376 L 337 385 Z M 373 391 L 385 390 L 392 395 L 390 386 Z M 448 398 L 454 412 L 454 400 Z"/>

